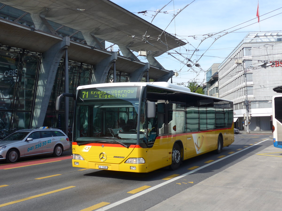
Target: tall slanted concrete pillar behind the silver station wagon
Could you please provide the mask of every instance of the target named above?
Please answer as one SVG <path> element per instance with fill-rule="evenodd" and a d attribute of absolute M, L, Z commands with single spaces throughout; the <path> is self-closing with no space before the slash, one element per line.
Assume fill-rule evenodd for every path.
<path fill-rule="evenodd" d="M 42 127 L 51 91 L 56 77 L 60 60 L 65 49 L 70 45 L 70 38 L 64 37 L 62 41 L 54 44 L 49 50 L 42 53 L 41 64 L 36 90 L 35 107 L 32 119 L 33 127 Z"/>

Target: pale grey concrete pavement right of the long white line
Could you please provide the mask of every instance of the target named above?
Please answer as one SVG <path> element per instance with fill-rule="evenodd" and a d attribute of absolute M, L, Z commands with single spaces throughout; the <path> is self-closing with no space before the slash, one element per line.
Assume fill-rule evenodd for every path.
<path fill-rule="evenodd" d="M 280 211 L 281 166 L 282 150 L 270 146 L 147 210 Z"/>

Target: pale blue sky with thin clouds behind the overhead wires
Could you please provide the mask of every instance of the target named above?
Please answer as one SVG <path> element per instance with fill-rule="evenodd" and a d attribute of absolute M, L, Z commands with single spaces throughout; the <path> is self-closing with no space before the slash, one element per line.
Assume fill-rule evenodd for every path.
<path fill-rule="evenodd" d="M 152 15 L 155 14 L 153 11 L 161 9 L 170 2 L 170 0 L 112 1 L 148 22 L 152 21 Z M 176 14 L 178 9 L 184 8 L 187 4 L 189 5 L 169 24 L 173 18 L 173 13 Z M 162 10 L 168 11 L 168 14 L 158 13 L 152 24 L 163 30 L 166 29 L 168 33 L 176 34 L 176 37 L 184 39 L 184 42 L 189 42 L 189 44 L 186 44 L 184 47 L 176 48 L 176 51 L 182 53 L 184 57 L 190 57 L 189 54 L 197 48 L 198 51 L 196 51 L 195 55 L 191 58 L 192 61 L 198 60 L 204 53 L 198 62 L 201 65 L 201 69 L 194 67 L 196 72 L 183 64 L 183 62 L 186 63 L 187 60 L 180 55 L 176 57 L 182 62 L 179 62 L 167 53 L 157 57 L 157 60 L 165 69 L 179 73 L 178 77 L 173 77 L 173 82 L 183 82 L 187 84 L 188 81 L 197 81 L 202 83 L 205 81 L 206 77 L 204 71 L 209 69 L 213 63 L 221 63 L 239 42 L 243 40 L 248 32 L 282 30 L 282 1 L 259 0 L 259 23 L 257 23 L 256 17 L 257 4 L 257 0 L 174 0 Z M 137 14 L 137 12 L 144 10 L 148 11 L 146 15 Z M 272 12 L 273 10 L 276 11 Z M 218 34 L 223 35 L 221 37 L 214 35 L 205 39 L 200 44 L 201 39 L 206 37 L 203 35 L 208 33 L 214 34 L 223 30 L 225 30 L 224 33 L 235 31 L 227 33 L 226 35 L 223 35 L 224 33 Z M 208 51 L 206 51 L 207 49 Z M 144 60 L 144 62 L 147 61 Z"/>

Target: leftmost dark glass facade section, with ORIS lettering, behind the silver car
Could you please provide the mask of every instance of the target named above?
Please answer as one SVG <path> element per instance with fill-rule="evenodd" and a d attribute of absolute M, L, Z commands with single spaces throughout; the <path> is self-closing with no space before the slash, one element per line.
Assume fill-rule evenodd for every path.
<path fill-rule="evenodd" d="M 0 48 L 0 129 L 30 125 L 38 63 L 35 53 Z"/>

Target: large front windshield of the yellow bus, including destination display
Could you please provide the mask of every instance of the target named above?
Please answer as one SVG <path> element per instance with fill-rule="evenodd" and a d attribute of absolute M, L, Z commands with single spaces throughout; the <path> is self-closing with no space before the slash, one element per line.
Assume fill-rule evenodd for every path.
<path fill-rule="evenodd" d="M 139 93 L 140 87 L 78 90 L 73 141 L 136 144 Z"/>

